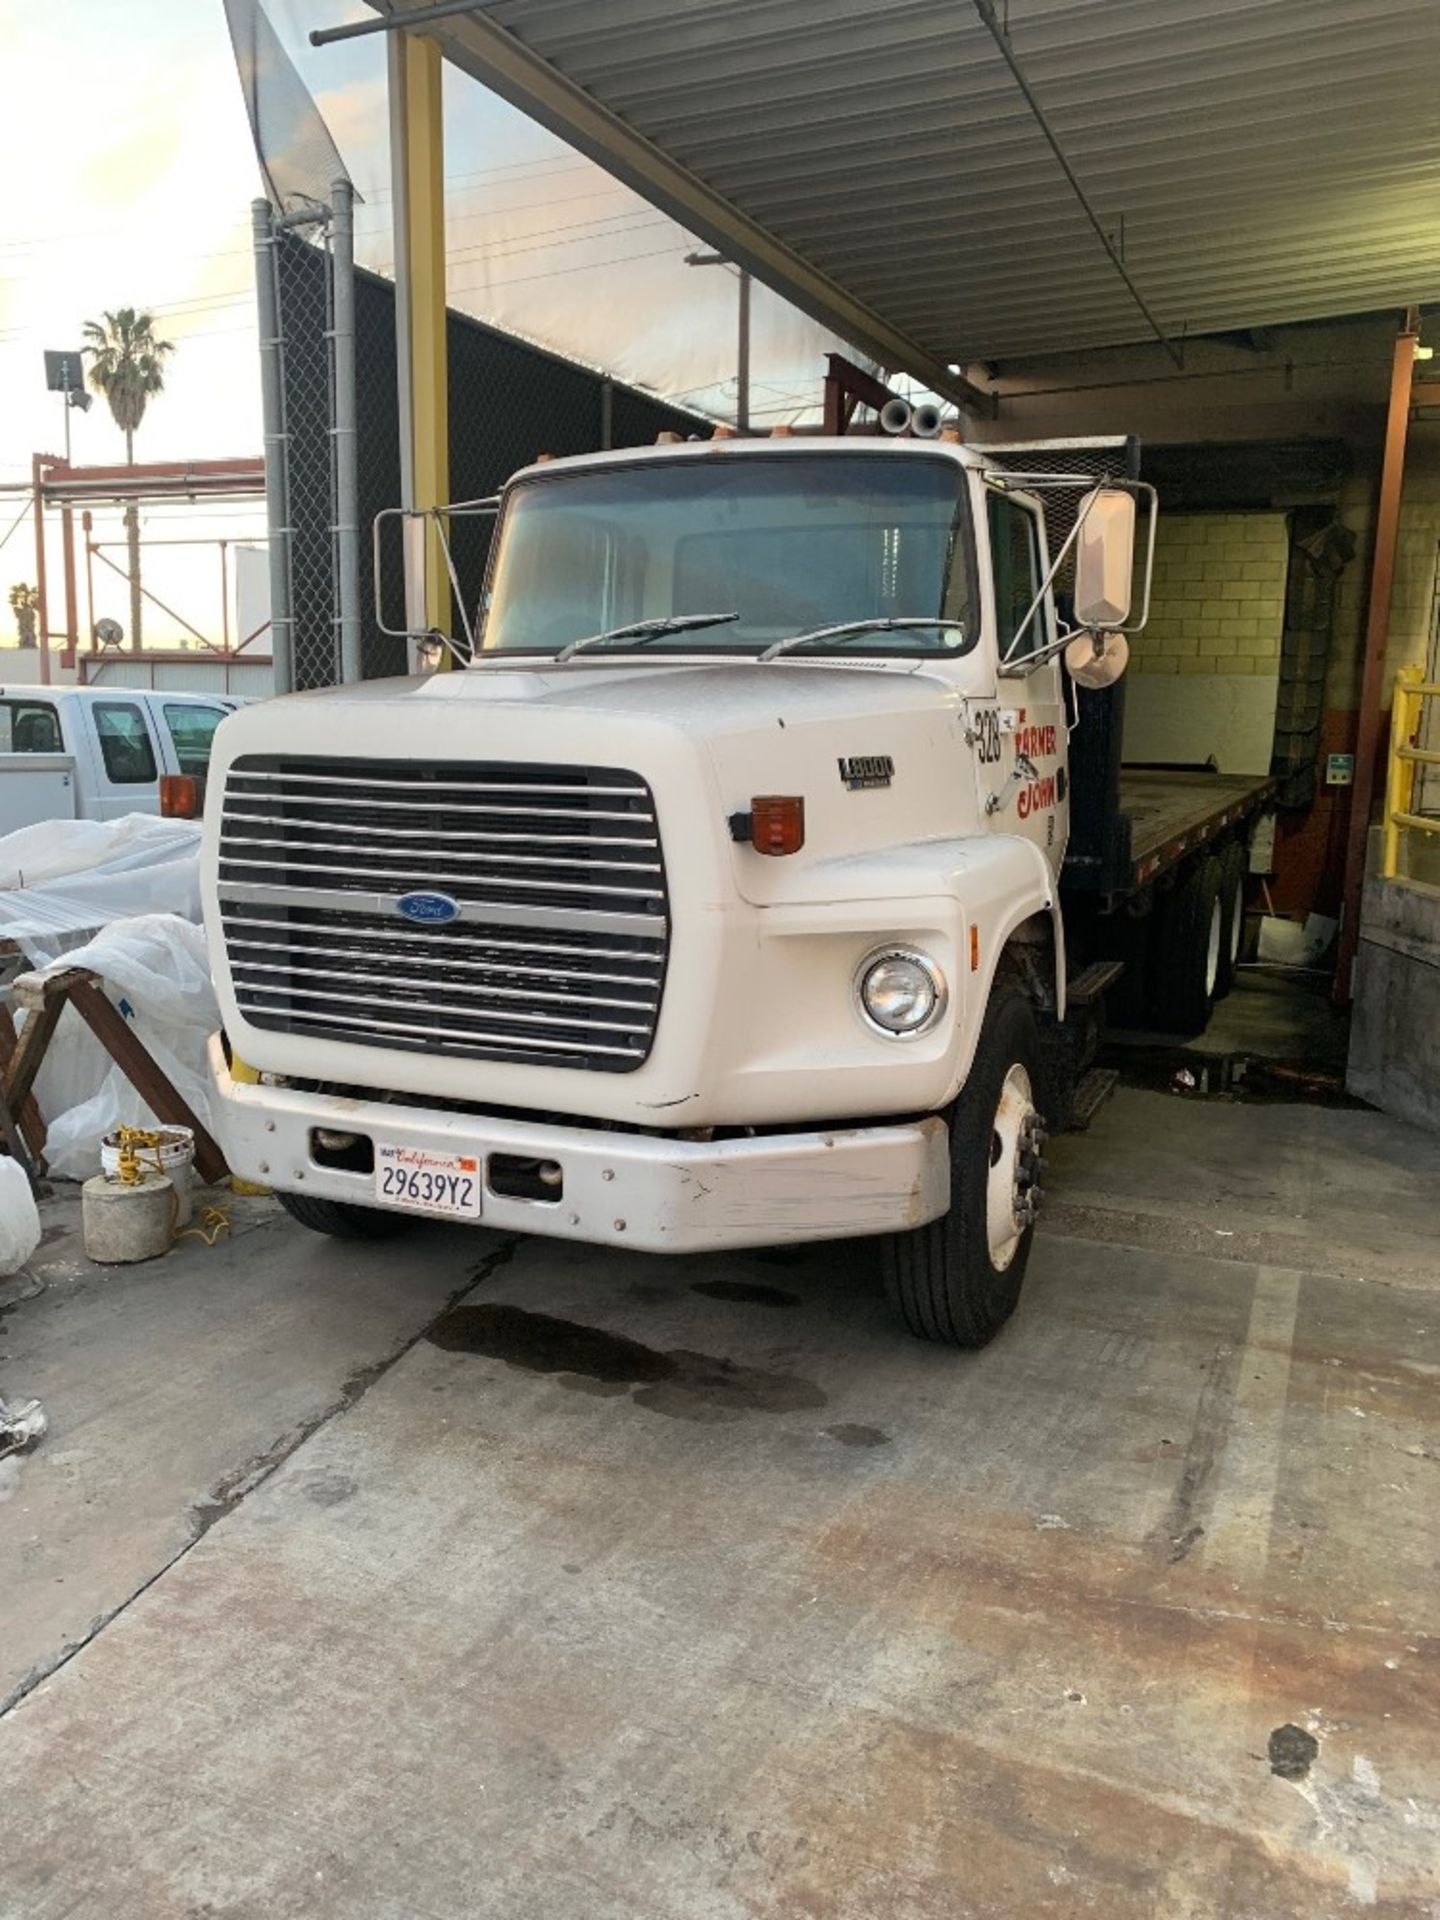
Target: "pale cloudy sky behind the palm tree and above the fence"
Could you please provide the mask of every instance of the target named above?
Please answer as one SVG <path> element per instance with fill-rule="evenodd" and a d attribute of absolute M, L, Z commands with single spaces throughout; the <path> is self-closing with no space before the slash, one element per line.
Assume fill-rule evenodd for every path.
<path fill-rule="evenodd" d="M 311 27 L 372 15 L 357 0 L 265 6 L 363 194 L 357 255 L 388 271 L 382 38 L 307 42 Z M 83 323 L 106 307 L 146 307 L 175 342 L 136 459 L 259 453 L 250 202 L 261 180 L 221 0 L 0 0 L 0 127 L 12 156 L 0 192 L 0 486 L 23 482 L 35 451 L 63 451 L 42 351 L 79 346 Z M 666 397 L 733 411 L 733 275 L 687 267 L 689 234 L 453 69 L 445 180 L 451 305 Z M 756 288 L 758 424 L 814 411 L 829 346 Z M 77 463 L 125 457 L 102 399 L 71 413 L 71 436 Z M 8 588 L 35 574 L 21 513 L 23 495 L 0 492 L 0 637 Z M 259 507 L 148 509 L 146 584 L 211 630 L 215 553 L 154 543 L 261 526 Z M 98 538 L 119 538 L 119 524 L 104 520 Z M 127 593 L 102 561 L 106 612 L 125 624 Z M 159 611 L 148 616 L 148 639 L 177 634 Z"/>

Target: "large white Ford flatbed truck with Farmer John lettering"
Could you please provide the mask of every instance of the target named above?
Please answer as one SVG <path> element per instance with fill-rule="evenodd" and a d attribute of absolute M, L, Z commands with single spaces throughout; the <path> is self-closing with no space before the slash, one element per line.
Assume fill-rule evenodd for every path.
<path fill-rule="evenodd" d="M 1117 972 L 1096 929 L 1148 889 L 1165 977 L 1215 991 L 1263 797 L 1190 795 L 1179 841 L 1162 806 L 1150 849 L 1112 791 L 1062 910 L 1075 682 L 1123 664 L 1142 490 L 1035 467 L 952 438 L 538 463 L 465 670 L 227 720 L 234 1171 L 351 1236 L 876 1235 L 914 1332 L 989 1340 Z"/>

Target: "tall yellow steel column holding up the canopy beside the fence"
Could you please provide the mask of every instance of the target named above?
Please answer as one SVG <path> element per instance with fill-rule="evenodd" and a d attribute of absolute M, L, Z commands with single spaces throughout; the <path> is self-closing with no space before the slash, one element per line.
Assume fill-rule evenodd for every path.
<path fill-rule="evenodd" d="M 445 134 L 442 60 L 436 40 L 396 33 L 392 84 L 392 177 L 396 217 L 397 342 L 403 390 L 401 432 L 409 415 L 407 507 L 449 499 L 449 380 L 445 367 Z M 405 353 L 405 349 L 409 349 Z M 409 374 L 409 378 L 407 378 Z M 424 540 L 424 624 L 449 634 L 449 574 L 438 522 Z M 442 649 L 442 668 L 451 664 Z"/>

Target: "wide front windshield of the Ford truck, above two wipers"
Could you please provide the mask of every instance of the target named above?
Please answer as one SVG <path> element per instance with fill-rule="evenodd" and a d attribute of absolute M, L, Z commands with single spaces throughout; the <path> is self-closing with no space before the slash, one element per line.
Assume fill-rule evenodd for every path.
<path fill-rule="evenodd" d="M 852 636 L 856 653 L 964 653 L 975 637 L 962 468 L 876 453 L 664 459 L 516 486 L 480 651 L 559 653 L 637 622 L 645 655 L 760 653 L 812 628 L 943 618 Z M 616 636 L 607 657 L 624 655 Z M 826 651 L 824 643 L 810 651 Z"/>

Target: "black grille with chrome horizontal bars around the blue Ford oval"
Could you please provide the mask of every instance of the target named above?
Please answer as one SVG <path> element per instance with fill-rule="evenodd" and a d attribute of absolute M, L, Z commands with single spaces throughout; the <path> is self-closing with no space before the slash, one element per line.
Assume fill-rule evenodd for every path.
<path fill-rule="evenodd" d="M 459 916 L 413 925 L 407 893 Z M 626 1073 L 668 947 L 655 801 L 593 766 L 236 760 L 219 895 L 257 1027 Z"/>

